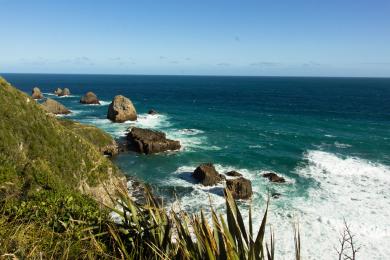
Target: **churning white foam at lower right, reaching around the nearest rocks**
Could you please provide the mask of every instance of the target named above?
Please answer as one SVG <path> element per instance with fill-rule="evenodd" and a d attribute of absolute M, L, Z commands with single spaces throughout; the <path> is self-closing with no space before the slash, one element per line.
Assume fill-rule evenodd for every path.
<path fill-rule="evenodd" d="M 223 184 L 212 187 L 196 184 L 191 177 L 196 166 L 179 167 L 164 184 L 192 188 L 176 202 L 182 209 L 197 212 L 203 208 L 208 215 L 211 202 L 219 212 L 224 212 Z M 252 205 L 254 224 L 258 227 L 269 192 L 276 187 L 276 191 L 282 194 L 279 199 L 271 199 L 267 227 L 267 230 L 272 227 L 275 232 L 276 248 L 281 259 L 293 257 L 293 225 L 296 223 L 300 225 L 305 259 L 337 258 L 335 248 L 339 247 L 344 219 L 355 235 L 357 246 L 361 246 L 359 258 L 384 259 L 390 255 L 388 166 L 356 157 L 308 151 L 295 169 L 298 179 L 312 182 L 303 193 L 300 182 L 287 178 L 286 184 L 272 184 L 261 177 L 263 171 L 260 169 L 239 169 L 220 164 L 215 167 L 220 173 L 237 170 L 252 181 L 252 202 L 239 203 L 246 223 L 249 204 Z"/>

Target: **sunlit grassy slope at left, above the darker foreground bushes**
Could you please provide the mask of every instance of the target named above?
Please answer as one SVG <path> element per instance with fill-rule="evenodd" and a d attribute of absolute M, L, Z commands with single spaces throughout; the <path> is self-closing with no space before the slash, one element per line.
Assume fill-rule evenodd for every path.
<path fill-rule="evenodd" d="M 113 140 L 99 129 L 60 122 L 0 77 L 0 190 L 28 196 L 78 190 L 102 199 L 102 183 L 120 176 L 102 155 Z M 96 138 L 97 140 L 92 140 Z M 94 143 L 98 144 L 95 145 Z"/>

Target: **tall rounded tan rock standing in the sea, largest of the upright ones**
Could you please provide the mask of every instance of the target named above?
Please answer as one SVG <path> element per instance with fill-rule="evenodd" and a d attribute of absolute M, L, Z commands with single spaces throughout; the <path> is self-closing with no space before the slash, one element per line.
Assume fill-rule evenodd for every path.
<path fill-rule="evenodd" d="M 107 118 L 113 122 L 122 123 L 127 120 L 137 120 L 137 111 L 130 99 L 119 95 L 108 107 Z"/>

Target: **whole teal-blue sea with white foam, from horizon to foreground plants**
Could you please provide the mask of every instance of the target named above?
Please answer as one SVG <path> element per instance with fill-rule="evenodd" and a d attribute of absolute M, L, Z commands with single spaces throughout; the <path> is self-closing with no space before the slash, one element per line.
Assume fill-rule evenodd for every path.
<path fill-rule="evenodd" d="M 246 212 L 251 203 L 257 224 L 267 194 L 281 193 L 271 199 L 269 221 L 285 259 L 293 258 L 296 222 L 306 259 L 335 258 L 344 218 L 362 246 L 361 259 L 390 255 L 390 79 L 3 76 L 29 94 L 38 86 L 72 110 L 67 117 L 114 137 L 136 125 L 180 140 L 179 152 L 129 152 L 115 159 L 126 174 L 154 185 L 169 207 L 196 212 L 211 201 L 223 210 L 222 186 L 204 188 L 191 179 L 198 164 L 212 162 L 222 173 L 234 169 L 252 181 L 253 199 L 240 207 Z M 54 96 L 57 87 L 72 95 Z M 81 105 L 87 91 L 102 105 Z M 136 122 L 106 119 L 118 94 L 135 104 Z M 148 115 L 149 109 L 160 114 Z M 264 171 L 279 173 L 287 183 L 269 183 Z"/>

